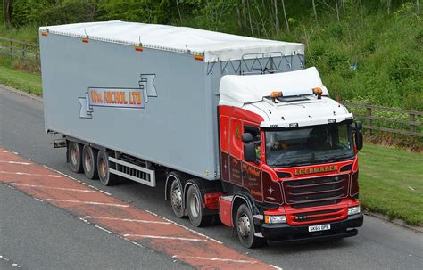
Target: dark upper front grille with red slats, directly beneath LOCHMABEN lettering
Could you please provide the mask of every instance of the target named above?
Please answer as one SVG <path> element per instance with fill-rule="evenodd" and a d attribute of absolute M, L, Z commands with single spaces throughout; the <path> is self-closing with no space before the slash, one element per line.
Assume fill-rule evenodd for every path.
<path fill-rule="evenodd" d="M 284 181 L 286 203 L 299 207 L 299 204 L 340 200 L 348 194 L 348 182 L 348 175 Z"/>

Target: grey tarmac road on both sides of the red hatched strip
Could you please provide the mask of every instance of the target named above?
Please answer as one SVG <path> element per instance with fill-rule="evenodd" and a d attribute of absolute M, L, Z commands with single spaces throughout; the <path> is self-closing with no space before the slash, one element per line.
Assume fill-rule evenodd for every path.
<path fill-rule="evenodd" d="M 180 225 L 194 229 L 230 250 L 284 269 L 422 269 L 423 235 L 366 216 L 359 235 L 342 241 L 280 245 L 248 250 L 223 225 L 194 228 L 187 219 L 174 217 L 163 200 L 164 180 L 158 187 L 124 182 L 105 187 L 98 181 L 74 174 L 63 149 L 53 149 L 57 135 L 44 133 L 43 104 L 0 87 L 0 146 L 16 151 L 31 162 L 46 165 L 79 181 L 109 192 L 116 200 L 130 203 Z M 160 249 L 142 248 L 115 234 L 89 225 L 65 209 L 34 200 L 25 193 L 0 184 L 0 268 L 112 269 L 189 268 Z M 15 266 L 12 266 L 14 264 Z"/>

